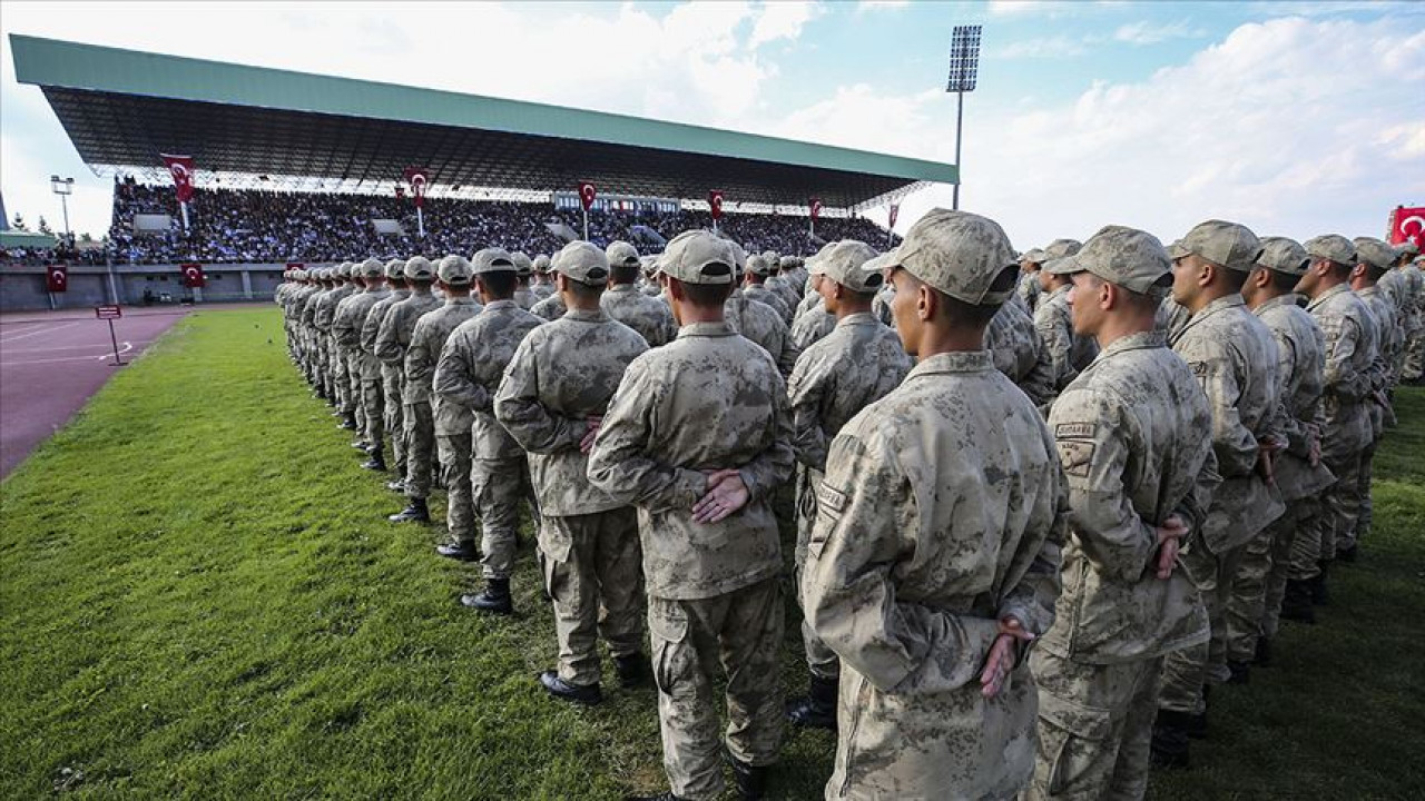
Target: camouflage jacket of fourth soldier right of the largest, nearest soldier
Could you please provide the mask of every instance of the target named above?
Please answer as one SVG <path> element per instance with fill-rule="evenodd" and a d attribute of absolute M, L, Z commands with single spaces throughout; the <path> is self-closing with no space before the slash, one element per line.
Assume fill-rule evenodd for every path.
<path fill-rule="evenodd" d="M 1324 392 L 1317 425 L 1321 428 L 1321 453 L 1335 462 L 1365 448 L 1371 438 L 1365 402 L 1372 391 L 1375 324 L 1365 301 L 1345 284 L 1315 296 L 1307 304 L 1307 311 L 1325 341 Z"/>

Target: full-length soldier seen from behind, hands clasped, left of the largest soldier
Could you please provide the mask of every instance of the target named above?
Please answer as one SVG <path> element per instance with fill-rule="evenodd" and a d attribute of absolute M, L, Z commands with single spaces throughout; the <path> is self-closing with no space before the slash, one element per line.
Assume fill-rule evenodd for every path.
<path fill-rule="evenodd" d="M 638 506 L 648 633 L 671 792 L 717 798 L 711 666 L 727 674 L 725 754 L 761 798 L 781 731 L 782 569 L 772 493 L 791 476 L 787 389 L 771 356 L 722 319 L 728 242 L 675 237 L 663 269 L 683 325 L 634 359 L 589 456 L 589 479 Z"/>

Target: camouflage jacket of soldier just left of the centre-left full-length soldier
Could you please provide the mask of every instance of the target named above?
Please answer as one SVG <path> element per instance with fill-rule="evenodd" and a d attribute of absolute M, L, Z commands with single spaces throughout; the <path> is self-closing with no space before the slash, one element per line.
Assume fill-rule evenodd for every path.
<path fill-rule="evenodd" d="M 579 449 L 589 418 L 603 415 L 628 362 L 648 349 L 637 331 L 603 311 L 573 309 L 532 331 L 504 369 L 494 418 L 530 456 L 540 515 L 618 509 L 586 477 Z"/>

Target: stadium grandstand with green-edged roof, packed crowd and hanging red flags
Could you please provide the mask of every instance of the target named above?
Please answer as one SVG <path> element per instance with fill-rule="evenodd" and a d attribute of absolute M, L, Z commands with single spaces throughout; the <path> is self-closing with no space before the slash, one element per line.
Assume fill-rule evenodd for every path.
<path fill-rule="evenodd" d="M 750 249 L 893 242 L 864 217 L 958 168 L 627 115 L 13 34 L 16 77 L 40 87 L 84 162 L 114 181 L 105 247 L 14 249 L 6 306 L 137 302 L 200 262 L 219 282 L 184 299 L 255 298 L 286 264 L 439 257 L 497 245 L 551 252 L 583 238 L 660 252 L 712 227 Z M 192 162 L 180 208 L 162 154 Z M 409 172 L 426 177 L 418 211 Z M 34 271 L 16 292 L 16 271 Z M 107 275 L 105 275 L 107 274 Z M 161 286 L 158 286 L 161 289 Z M 88 298 L 93 289 L 95 298 Z M 194 296 L 197 295 L 197 296 Z M 54 296 L 48 298 L 56 305 Z"/>

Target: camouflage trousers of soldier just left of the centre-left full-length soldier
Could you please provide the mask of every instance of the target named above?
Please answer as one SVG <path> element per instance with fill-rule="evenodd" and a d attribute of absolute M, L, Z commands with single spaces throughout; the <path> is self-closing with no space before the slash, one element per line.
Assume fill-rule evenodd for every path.
<path fill-rule="evenodd" d="M 614 657 L 643 647 L 643 550 L 634 507 L 547 516 L 539 529 L 544 591 L 554 604 L 559 677 L 598 684 L 598 639 Z"/>

